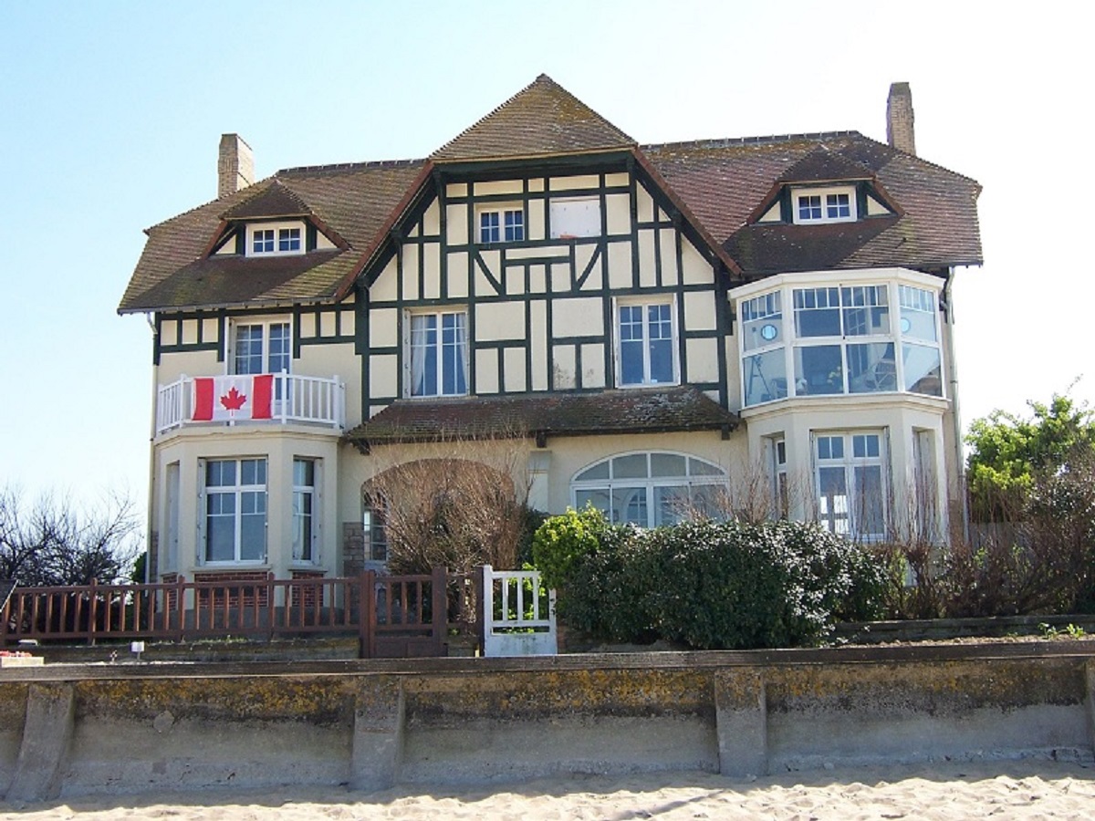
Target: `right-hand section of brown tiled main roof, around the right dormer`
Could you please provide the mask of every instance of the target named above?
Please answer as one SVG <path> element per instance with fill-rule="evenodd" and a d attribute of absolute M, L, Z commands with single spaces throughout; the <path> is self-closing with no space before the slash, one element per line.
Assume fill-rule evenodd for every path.
<path fill-rule="evenodd" d="M 747 278 L 825 268 L 979 265 L 973 180 L 857 131 L 643 146 Z M 830 226 L 751 223 L 773 184 L 869 180 L 896 216 Z"/>

